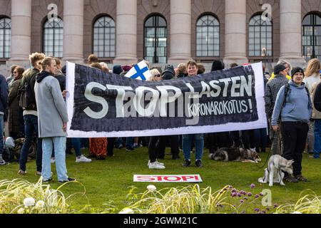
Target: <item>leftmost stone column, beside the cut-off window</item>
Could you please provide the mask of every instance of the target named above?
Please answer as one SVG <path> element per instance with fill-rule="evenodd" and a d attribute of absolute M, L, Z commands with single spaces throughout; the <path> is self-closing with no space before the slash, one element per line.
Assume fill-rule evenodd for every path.
<path fill-rule="evenodd" d="M 11 58 L 9 62 L 28 62 L 30 52 L 31 0 L 11 0 Z"/>

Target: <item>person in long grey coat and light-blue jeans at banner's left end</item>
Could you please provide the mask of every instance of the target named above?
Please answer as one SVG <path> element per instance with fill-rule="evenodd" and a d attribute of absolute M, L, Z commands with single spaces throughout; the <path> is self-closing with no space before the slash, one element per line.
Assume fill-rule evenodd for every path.
<path fill-rule="evenodd" d="M 37 76 L 34 86 L 39 138 L 42 138 L 41 175 L 43 182 L 52 180 L 51 152 L 54 145 L 58 182 L 73 181 L 74 179 L 67 176 L 66 169 L 65 151 L 68 115 L 58 80 L 53 76 L 56 71 L 56 61 L 54 58 L 44 58 L 41 65 L 43 71 Z"/>

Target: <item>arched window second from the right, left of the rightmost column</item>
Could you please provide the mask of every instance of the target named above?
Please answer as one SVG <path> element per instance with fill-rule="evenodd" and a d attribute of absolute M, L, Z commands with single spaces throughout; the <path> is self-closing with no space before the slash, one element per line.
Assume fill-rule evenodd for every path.
<path fill-rule="evenodd" d="M 272 21 L 253 16 L 249 24 L 249 56 L 272 56 Z"/>

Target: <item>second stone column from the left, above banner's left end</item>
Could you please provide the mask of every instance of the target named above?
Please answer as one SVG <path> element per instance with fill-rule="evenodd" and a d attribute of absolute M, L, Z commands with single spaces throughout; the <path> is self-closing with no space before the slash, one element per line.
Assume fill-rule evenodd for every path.
<path fill-rule="evenodd" d="M 63 61 L 83 59 L 83 0 L 63 0 Z"/>

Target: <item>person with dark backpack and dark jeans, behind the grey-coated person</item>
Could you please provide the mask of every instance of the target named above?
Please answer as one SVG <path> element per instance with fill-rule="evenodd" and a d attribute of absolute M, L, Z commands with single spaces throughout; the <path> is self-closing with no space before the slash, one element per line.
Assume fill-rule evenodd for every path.
<path fill-rule="evenodd" d="M 19 88 L 19 105 L 24 110 L 24 134 L 25 141 L 21 148 L 21 155 L 19 158 L 19 172 L 20 175 L 26 174 L 26 162 L 28 158 L 29 148 L 36 133 L 37 152 L 36 152 L 36 175 L 41 175 L 41 160 L 42 160 L 42 146 L 41 139 L 38 137 L 38 115 L 37 105 L 34 93 L 34 85 L 36 83 L 36 76 L 41 71 L 41 61 L 46 56 L 44 53 L 32 53 L 29 56 L 31 63 L 31 70 L 21 80 Z"/>

